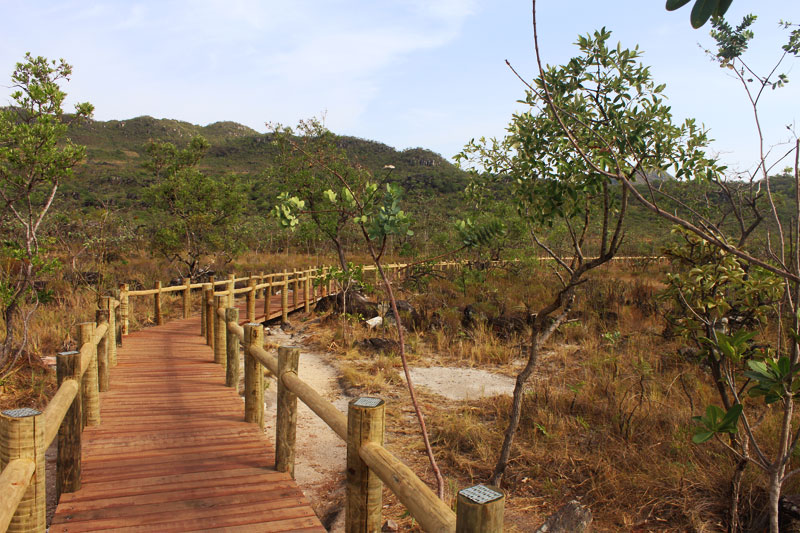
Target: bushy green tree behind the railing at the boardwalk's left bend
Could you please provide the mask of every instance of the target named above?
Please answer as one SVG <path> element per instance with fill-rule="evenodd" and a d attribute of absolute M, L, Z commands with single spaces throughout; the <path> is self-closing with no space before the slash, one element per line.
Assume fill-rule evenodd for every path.
<path fill-rule="evenodd" d="M 179 274 L 196 277 L 209 261 L 229 262 L 241 249 L 237 231 L 245 194 L 235 176 L 211 177 L 196 168 L 208 148 L 202 137 L 179 150 L 172 143 L 151 143 L 149 168 L 159 179 L 148 189 L 157 211 L 151 223 L 154 251 L 183 265 Z M 205 262 L 205 263 L 204 263 Z"/>

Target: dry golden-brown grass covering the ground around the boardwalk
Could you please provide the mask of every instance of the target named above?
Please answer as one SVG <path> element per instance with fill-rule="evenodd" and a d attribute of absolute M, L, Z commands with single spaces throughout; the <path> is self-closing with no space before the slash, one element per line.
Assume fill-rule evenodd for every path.
<path fill-rule="evenodd" d="M 229 270 L 269 272 L 317 261 L 253 255 Z M 683 342 L 664 321 L 668 304 L 658 291 L 665 268 L 615 263 L 581 287 L 569 322 L 551 340 L 529 384 L 504 487 L 512 528 L 531 531 L 573 498 L 591 508 L 598 531 L 722 528 L 734 465 L 719 443 L 691 442 L 691 416 L 716 398 L 704 369 L 682 350 Z M 149 258 L 130 260 L 114 273 L 115 282 L 142 287 L 169 277 L 165 266 L 154 266 Z M 406 316 L 410 364 L 514 375 L 527 338 L 525 304 L 535 304 L 553 282 L 549 269 L 540 264 L 434 272 L 407 281 L 401 297 L 416 309 Z M 41 357 L 74 347 L 75 324 L 93 313 L 94 291 L 64 279 L 50 283 L 56 298 L 36 314 L 30 356 L 0 384 L 0 407 L 46 404 L 55 379 Z M 379 294 L 375 297 L 380 300 Z M 151 300 L 133 299 L 132 305 L 131 327 L 152 325 Z M 178 316 L 179 296 L 165 295 L 164 309 L 165 316 Z M 432 481 L 399 358 L 391 350 L 376 352 L 361 343 L 369 337 L 392 337 L 392 328 L 371 331 L 359 317 L 343 322 L 327 316 L 312 331 L 319 348 L 336 354 L 345 388 L 388 400 L 389 448 Z M 459 488 L 485 482 L 502 440 L 510 398 L 454 402 L 422 390 L 421 401 L 451 496 Z M 759 431 L 769 435 L 776 424 L 766 413 Z M 786 493 L 797 488 L 792 484 Z M 741 503 L 745 525 L 763 519 L 765 498 L 763 479 L 749 468 Z M 402 506 L 388 493 L 386 500 L 391 503 L 387 515 L 413 531 L 413 520 Z"/>

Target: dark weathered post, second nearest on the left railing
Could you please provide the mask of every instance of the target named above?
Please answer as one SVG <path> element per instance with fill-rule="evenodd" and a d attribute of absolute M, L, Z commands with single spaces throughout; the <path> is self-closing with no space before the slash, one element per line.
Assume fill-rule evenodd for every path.
<path fill-rule="evenodd" d="M 81 353 L 61 352 L 56 356 L 58 386 L 67 379 L 78 383 L 78 394 L 58 428 L 58 459 L 56 460 L 56 500 L 61 494 L 81 488 Z"/>

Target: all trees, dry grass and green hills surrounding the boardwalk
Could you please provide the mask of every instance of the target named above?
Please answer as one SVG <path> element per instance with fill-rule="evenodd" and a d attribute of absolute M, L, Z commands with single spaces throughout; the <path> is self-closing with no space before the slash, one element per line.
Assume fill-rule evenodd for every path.
<path fill-rule="evenodd" d="M 708 153 L 696 122 L 674 121 L 638 49 L 612 46 L 606 29 L 545 68 L 534 18 L 526 108 L 504 138 L 469 143 L 463 170 L 317 120 L 261 135 L 82 122 L 81 104 L 68 121 L 69 66 L 26 56 L 0 114 L 3 402 L 45 401 L 52 375 L 36 356 L 71 342 L 70 324 L 47 322 L 65 308 L 78 320 L 119 282 L 333 260 L 341 313 L 306 327 L 337 352 L 347 387 L 394 399 L 392 442 L 440 497 L 491 481 L 513 492 L 512 523 L 568 496 L 601 529 L 779 531 L 780 498 L 800 487 L 800 141 L 790 130 L 791 143 L 771 146 L 759 110 L 788 83 L 800 28 L 783 24 L 787 42 L 762 74 L 746 61 L 755 17 L 730 24 L 730 4 L 697 0 L 691 20 L 711 20 L 710 55 L 756 121 L 763 155 L 741 174 Z M 662 252 L 669 263 L 653 259 Z M 616 262 L 625 254 L 637 258 Z M 438 271 L 440 257 L 462 267 Z M 402 282 L 385 270 L 400 258 Z M 377 329 L 352 312 L 358 291 L 386 315 Z M 134 310 L 133 327 L 149 313 Z M 412 381 L 430 365 L 513 376 L 513 390 L 434 398 Z"/>

